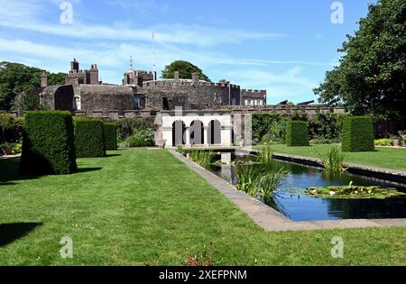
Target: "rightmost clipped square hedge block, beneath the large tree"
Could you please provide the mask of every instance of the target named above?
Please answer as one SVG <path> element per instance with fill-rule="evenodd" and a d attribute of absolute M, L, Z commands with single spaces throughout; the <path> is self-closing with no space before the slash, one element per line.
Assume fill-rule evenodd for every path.
<path fill-rule="evenodd" d="M 374 151 L 374 126 L 370 116 L 347 116 L 343 122 L 342 151 Z"/>

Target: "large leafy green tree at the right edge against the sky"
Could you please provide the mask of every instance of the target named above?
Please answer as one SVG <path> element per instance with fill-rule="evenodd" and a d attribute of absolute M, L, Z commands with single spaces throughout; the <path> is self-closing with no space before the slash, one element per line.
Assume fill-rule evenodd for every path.
<path fill-rule="evenodd" d="M 369 5 L 359 30 L 338 50 L 339 66 L 314 89 L 320 103 L 344 103 L 355 115 L 406 121 L 406 2 Z"/>

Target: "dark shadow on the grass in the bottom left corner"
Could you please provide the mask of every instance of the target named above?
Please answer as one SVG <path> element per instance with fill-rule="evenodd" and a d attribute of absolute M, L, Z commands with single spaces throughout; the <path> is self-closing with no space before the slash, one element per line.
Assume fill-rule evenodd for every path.
<path fill-rule="evenodd" d="M 23 238 L 38 226 L 42 223 L 0 224 L 0 247 Z"/>

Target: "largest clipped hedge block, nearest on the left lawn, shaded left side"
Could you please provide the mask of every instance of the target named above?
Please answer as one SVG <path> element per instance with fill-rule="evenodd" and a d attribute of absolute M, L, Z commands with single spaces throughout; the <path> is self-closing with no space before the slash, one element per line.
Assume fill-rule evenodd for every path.
<path fill-rule="evenodd" d="M 23 130 L 21 171 L 69 174 L 77 169 L 72 116 L 69 112 L 27 112 Z"/>

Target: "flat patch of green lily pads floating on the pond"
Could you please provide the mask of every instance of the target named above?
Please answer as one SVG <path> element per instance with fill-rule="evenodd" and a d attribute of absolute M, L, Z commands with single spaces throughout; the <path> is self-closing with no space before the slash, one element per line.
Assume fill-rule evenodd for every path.
<path fill-rule="evenodd" d="M 320 188 L 307 188 L 306 194 L 309 197 L 342 198 L 342 199 L 350 199 L 350 198 L 384 199 L 389 197 L 406 196 L 406 193 L 398 191 L 396 188 L 353 186 L 352 181 L 348 186 L 344 187 L 332 186 Z"/>

